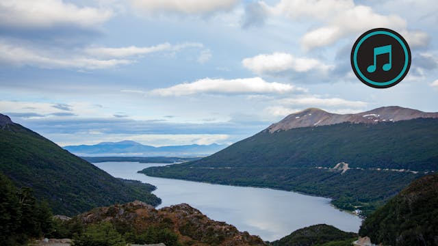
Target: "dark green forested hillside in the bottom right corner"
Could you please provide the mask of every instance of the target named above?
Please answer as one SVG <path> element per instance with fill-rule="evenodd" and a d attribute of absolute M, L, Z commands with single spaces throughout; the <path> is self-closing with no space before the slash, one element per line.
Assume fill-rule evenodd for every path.
<path fill-rule="evenodd" d="M 363 221 L 359 234 L 383 245 L 438 245 L 438 174 L 412 182 Z"/>

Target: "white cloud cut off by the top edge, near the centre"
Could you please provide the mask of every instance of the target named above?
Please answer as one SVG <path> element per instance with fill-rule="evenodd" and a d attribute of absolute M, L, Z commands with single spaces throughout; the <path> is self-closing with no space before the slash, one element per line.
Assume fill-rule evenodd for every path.
<path fill-rule="evenodd" d="M 212 12 L 231 10 L 239 0 L 131 0 L 133 8 L 147 14 L 170 12 L 178 14 L 209 14 Z"/>

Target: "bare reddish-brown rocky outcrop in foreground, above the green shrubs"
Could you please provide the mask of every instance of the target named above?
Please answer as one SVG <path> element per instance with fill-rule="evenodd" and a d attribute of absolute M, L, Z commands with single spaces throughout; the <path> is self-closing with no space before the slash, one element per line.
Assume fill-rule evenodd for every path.
<path fill-rule="evenodd" d="M 178 235 L 182 245 L 266 245 L 259 236 L 240 232 L 224 222 L 214 221 L 188 204 L 155 209 L 144 202 L 94 208 L 73 217 L 84 226 L 109 221 L 118 227 L 142 232 L 150 227 L 168 228 Z M 161 242 L 156 242 L 161 243 Z"/>

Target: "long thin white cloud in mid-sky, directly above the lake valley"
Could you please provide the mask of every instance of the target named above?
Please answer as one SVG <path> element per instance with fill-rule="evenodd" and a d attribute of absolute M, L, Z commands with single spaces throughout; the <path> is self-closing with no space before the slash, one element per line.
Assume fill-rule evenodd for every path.
<path fill-rule="evenodd" d="M 152 90 L 158 96 L 186 96 L 192 94 L 283 94 L 306 92 L 305 89 L 285 83 L 266 82 L 259 77 L 246 79 L 200 79 L 192 83 L 181 83 L 168 88 Z"/>

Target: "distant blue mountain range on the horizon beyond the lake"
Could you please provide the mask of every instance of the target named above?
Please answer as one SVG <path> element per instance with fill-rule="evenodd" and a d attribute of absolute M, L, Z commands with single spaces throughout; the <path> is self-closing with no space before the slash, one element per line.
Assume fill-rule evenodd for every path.
<path fill-rule="evenodd" d="M 211 154 L 227 145 L 212 143 L 209 145 L 184 146 L 146 146 L 136 141 L 102 142 L 95 145 L 64 146 L 64 149 L 78 154 L 142 154 L 142 155 L 175 155 L 175 154 Z"/>

